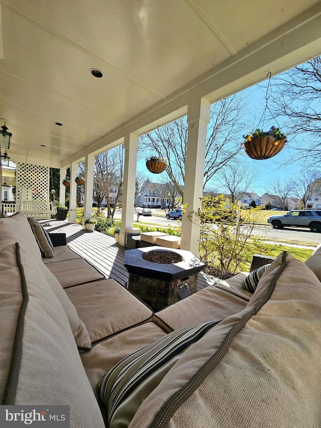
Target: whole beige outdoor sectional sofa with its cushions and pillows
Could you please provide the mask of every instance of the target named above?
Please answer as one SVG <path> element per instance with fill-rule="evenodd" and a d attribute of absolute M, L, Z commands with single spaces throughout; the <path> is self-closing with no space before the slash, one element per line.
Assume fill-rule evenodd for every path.
<path fill-rule="evenodd" d="M 0 218 L 2 404 L 68 405 L 72 427 L 321 426 L 321 248 L 154 314 L 49 241 Z"/>

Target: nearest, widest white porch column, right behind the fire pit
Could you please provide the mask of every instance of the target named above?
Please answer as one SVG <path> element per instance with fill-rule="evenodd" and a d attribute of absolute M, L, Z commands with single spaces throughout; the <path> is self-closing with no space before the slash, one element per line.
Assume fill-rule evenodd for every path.
<path fill-rule="evenodd" d="M 203 196 L 203 177 L 207 125 L 210 121 L 211 105 L 205 98 L 188 105 L 187 121 L 189 134 L 184 183 L 184 204 L 188 204 L 186 215 L 201 208 L 199 198 Z M 193 221 L 183 216 L 181 249 L 190 250 L 199 256 L 200 224 L 193 215 Z"/>

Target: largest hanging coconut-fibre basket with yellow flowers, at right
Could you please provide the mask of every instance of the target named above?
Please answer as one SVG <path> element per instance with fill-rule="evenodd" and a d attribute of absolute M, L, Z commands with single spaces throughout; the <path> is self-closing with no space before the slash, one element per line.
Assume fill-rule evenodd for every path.
<path fill-rule="evenodd" d="M 268 131 L 256 131 L 243 135 L 243 148 L 252 159 L 263 160 L 273 158 L 284 147 L 286 136 L 279 128 L 271 126 Z"/>

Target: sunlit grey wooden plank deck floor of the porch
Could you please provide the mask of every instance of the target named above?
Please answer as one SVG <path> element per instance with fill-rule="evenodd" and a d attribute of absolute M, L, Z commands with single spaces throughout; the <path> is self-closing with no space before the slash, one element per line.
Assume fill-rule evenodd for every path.
<path fill-rule="evenodd" d="M 66 233 L 67 245 L 93 264 L 107 278 L 113 278 L 127 287 L 128 272 L 124 266 L 125 249 L 116 244 L 113 236 L 83 230 L 79 224 L 67 221 L 41 220 L 48 233 Z M 200 272 L 197 290 L 215 283 L 215 279 Z"/>

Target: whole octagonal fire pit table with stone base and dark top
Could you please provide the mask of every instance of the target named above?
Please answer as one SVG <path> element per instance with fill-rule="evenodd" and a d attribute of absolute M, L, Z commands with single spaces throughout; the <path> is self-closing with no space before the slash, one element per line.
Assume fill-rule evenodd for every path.
<path fill-rule="evenodd" d="M 153 246 L 125 251 L 128 289 L 154 311 L 178 302 L 185 284 L 190 294 L 195 293 L 197 274 L 204 266 L 186 250 Z"/>

